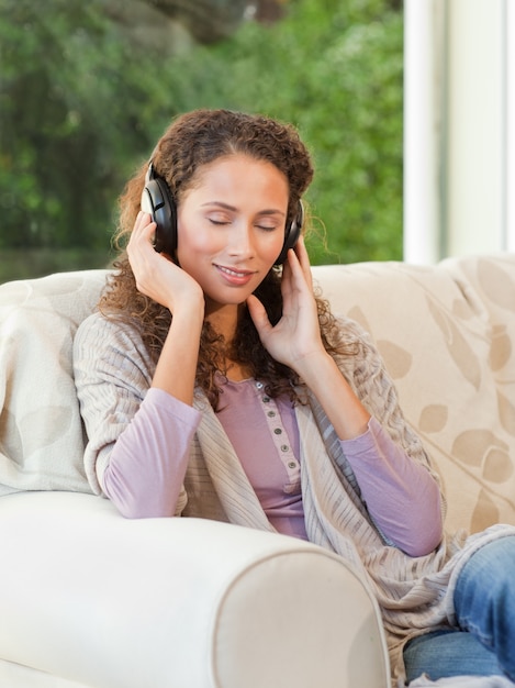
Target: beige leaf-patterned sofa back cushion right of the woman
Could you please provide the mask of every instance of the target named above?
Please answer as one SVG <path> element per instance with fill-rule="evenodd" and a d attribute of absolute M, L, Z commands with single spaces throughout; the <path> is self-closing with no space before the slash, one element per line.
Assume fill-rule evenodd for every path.
<path fill-rule="evenodd" d="M 515 523 L 515 255 L 315 276 L 372 334 L 441 475 L 448 530 Z"/>

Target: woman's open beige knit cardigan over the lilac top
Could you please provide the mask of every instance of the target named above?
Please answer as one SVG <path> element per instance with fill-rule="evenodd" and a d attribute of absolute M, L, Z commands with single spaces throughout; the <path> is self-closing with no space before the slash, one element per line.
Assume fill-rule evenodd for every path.
<path fill-rule="evenodd" d="M 340 332 L 358 345 L 356 355 L 337 359 L 343 375 L 393 440 L 437 478 L 418 436 L 404 420 L 393 382 L 370 337 L 350 320 L 342 321 Z M 117 379 L 110 381 L 112 376 L 105 370 L 117 371 Z M 136 412 L 153 373 L 154 364 L 136 330 L 98 314 L 79 328 L 75 376 L 89 435 L 85 462 L 92 488 L 99 493 L 112 445 Z M 100 418 L 103 404 L 99 395 L 111 397 L 116 404 L 111 414 L 115 424 Z M 202 420 L 191 445 L 180 512 L 273 531 L 216 414 L 200 391 L 194 406 L 202 411 Z M 372 589 L 387 630 L 393 678 L 402 683 L 406 640 L 452 624 L 452 590 L 461 566 L 482 544 L 515 534 L 515 528 L 497 525 L 470 537 L 446 537 L 426 556 L 407 556 L 385 544 L 371 522 L 338 437 L 317 401 L 307 395 L 306 403 L 299 404 L 295 413 L 309 539 L 345 557 Z"/>

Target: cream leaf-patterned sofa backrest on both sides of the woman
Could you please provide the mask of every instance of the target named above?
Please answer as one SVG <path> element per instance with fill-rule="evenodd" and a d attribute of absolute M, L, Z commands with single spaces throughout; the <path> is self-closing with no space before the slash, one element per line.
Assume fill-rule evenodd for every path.
<path fill-rule="evenodd" d="M 515 524 L 515 255 L 316 266 L 371 334 L 438 468 L 447 526 Z M 90 491 L 71 342 L 105 270 L 0 286 L 0 495 Z"/>

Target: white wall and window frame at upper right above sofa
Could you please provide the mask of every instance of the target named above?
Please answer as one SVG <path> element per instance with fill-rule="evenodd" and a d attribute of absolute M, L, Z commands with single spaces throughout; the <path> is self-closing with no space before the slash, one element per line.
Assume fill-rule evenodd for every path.
<path fill-rule="evenodd" d="M 515 0 L 405 1 L 408 262 L 515 248 L 514 42 Z"/>

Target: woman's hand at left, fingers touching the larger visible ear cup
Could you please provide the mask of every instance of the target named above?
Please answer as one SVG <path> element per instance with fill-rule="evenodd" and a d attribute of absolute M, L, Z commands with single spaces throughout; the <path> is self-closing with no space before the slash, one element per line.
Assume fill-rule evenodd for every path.
<path fill-rule="evenodd" d="M 178 304 L 186 308 L 204 307 L 200 285 L 165 254 L 154 248 L 156 223 L 148 213 L 139 211 L 127 244 L 127 256 L 137 290 L 171 313 Z"/>

